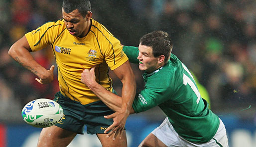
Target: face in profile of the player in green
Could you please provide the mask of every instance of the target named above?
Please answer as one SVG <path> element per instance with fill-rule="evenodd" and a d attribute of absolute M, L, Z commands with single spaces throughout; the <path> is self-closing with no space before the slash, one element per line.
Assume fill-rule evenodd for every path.
<path fill-rule="evenodd" d="M 138 50 L 139 53 L 137 59 L 139 60 L 140 70 L 145 70 L 146 72 L 151 73 L 159 68 L 159 57 L 154 57 L 153 49 L 151 47 L 139 44 Z"/>

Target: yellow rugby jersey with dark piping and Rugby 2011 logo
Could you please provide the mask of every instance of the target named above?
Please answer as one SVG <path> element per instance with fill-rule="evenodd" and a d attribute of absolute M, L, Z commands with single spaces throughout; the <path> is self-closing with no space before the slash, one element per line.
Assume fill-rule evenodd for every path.
<path fill-rule="evenodd" d="M 96 81 L 112 92 L 108 67 L 114 70 L 128 60 L 120 41 L 99 22 L 94 19 L 91 22 L 88 34 L 83 38 L 71 35 L 64 20 L 47 22 L 25 34 L 32 51 L 51 45 L 58 66 L 61 94 L 82 104 L 100 100 L 80 81 L 85 68 L 97 65 Z"/>

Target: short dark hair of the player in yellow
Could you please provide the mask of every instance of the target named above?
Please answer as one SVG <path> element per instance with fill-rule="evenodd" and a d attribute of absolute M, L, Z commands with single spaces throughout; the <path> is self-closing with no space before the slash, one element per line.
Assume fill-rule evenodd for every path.
<path fill-rule="evenodd" d="M 62 7 L 66 13 L 78 9 L 81 15 L 85 17 L 87 12 L 91 11 L 91 2 L 90 0 L 63 0 Z"/>

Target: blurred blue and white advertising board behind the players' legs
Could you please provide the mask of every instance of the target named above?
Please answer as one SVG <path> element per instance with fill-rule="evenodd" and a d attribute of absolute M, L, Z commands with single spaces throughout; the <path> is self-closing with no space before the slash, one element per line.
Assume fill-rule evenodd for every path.
<path fill-rule="evenodd" d="M 256 147 L 256 124 L 253 121 L 240 120 L 234 115 L 220 117 L 226 126 L 230 147 Z M 128 147 L 137 147 L 161 122 L 142 116 L 129 116 L 126 124 Z M 1 124 L 0 147 L 36 147 L 40 131 L 41 128 L 25 123 Z M 77 135 L 68 147 L 101 147 L 101 144 L 96 135 L 84 134 Z"/>

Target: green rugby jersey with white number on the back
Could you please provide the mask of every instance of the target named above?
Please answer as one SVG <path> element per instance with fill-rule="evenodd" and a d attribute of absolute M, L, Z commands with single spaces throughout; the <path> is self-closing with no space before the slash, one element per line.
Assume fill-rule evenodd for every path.
<path fill-rule="evenodd" d="M 138 63 L 138 48 L 123 47 L 129 61 Z M 175 131 L 190 142 L 210 141 L 219 128 L 219 117 L 201 98 L 187 67 L 171 54 L 163 67 L 143 74 L 144 89 L 136 94 L 132 107 L 136 113 L 159 106 Z"/>

